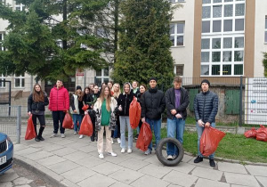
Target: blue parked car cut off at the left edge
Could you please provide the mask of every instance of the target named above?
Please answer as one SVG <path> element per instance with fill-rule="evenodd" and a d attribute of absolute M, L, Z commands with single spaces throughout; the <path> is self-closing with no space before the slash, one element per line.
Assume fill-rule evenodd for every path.
<path fill-rule="evenodd" d="M 0 133 L 0 175 L 12 167 L 13 143 L 7 134 Z"/>

